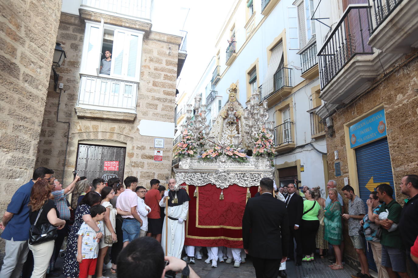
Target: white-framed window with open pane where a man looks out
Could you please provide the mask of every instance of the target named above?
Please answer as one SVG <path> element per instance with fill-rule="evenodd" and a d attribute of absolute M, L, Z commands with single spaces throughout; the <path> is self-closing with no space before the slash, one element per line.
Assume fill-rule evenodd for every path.
<path fill-rule="evenodd" d="M 86 21 L 80 73 L 139 81 L 143 32 Z M 110 75 L 100 74 L 104 52 L 110 50 Z"/>

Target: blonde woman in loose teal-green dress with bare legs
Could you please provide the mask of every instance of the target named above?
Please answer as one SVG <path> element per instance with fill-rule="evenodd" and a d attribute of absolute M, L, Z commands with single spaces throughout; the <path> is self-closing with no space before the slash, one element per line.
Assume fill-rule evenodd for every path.
<path fill-rule="evenodd" d="M 341 204 L 338 201 L 338 192 L 336 188 L 329 189 L 329 198 L 331 203 L 324 210 L 324 225 L 325 235 L 324 238 L 329 244 L 332 244 L 335 253 L 335 263 L 328 265 L 333 270 L 343 269 L 341 263 L 341 250 L 338 245 L 341 244 Z"/>

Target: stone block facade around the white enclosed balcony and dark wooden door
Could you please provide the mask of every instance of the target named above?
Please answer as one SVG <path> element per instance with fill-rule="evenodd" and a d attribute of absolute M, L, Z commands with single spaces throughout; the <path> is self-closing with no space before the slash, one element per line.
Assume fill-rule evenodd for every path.
<path fill-rule="evenodd" d="M 74 108 L 79 94 L 84 28 L 82 18 L 61 14 L 57 41 L 62 44 L 67 58 L 57 72 L 60 75 L 59 82 L 64 83 L 64 89 L 61 91 L 61 97 L 53 89 L 48 90 L 48 113 L 43 117 L 36 165 L 53 168 L 57 173 L 56 177 L 64 178 L 65 186 L 71 182 L 71 172 L 76 167 L 76 153 L 80 141 L 89 140 L 89 143 L 97 145 L 122 143 L 126 146 L 125 177 L 135 175 L 139 179 L 138 185 L 147 188 L 152 178 L 163 182 L 166 176 L 171 174 L 173 138 L 165 138 L 165 146 L 160 149 L 163 150 L 163 161 L 156 162 L 153 160 L 154 137 L 140 135 L 138 125 L 143 119 L 173 123 L 178 47 L 181 38 L 152 31 L 145 33 L 138 80 L 137 116 L 133 123 L 112 118 L 78 118 Z M 62 122 L 69 122 L 69 133 L 68 123 Z"/>

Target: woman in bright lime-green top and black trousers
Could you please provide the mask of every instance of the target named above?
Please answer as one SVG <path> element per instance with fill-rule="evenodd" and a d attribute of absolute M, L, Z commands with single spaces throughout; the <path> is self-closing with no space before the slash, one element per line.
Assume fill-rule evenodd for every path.
<path fill-rule="evenodd" d="M 307 189 L 305 191 L 306 200 L 303 201 L 303 215 L 301 222 L 302 233 L 302 252 L 305 254 L 304 262 L 314 260 L 315 236 L 319 228 L 318 213 L 319 203 L 315 200 L 315 191 Z"/>

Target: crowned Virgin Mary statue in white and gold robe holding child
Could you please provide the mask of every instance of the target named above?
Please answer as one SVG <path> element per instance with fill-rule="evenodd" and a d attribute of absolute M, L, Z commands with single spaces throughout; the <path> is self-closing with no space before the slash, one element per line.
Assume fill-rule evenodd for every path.
<path fill-rule="evenodd" d="M 247 148 L 242 120 L 244 109 L 237 100 L 237 85 L 232 83 L 228 91 L 229 100 L 219 112 L 209 137 L 214 138 L 215 143 L 223 146 L 234 145 Z"/>

